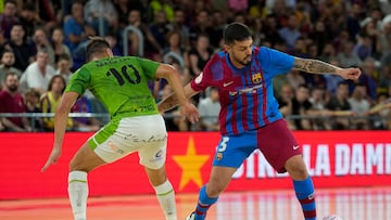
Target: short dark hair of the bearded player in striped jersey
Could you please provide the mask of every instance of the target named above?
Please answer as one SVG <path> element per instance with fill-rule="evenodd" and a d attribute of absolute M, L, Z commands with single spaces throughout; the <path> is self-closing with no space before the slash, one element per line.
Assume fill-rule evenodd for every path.
<path fill-rule="evenodd" d="M 248 40 L 252 34 L 248 26 L 241 23 L 231 23 L 224 29 L 224 43 L 232 44 L 235 41 Z"/>

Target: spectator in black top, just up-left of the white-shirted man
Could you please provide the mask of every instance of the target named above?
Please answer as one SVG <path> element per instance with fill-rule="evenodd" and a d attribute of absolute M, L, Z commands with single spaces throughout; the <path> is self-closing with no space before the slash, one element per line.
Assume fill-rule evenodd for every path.
<path fill-rule="evenodd" d="M 34 46 L 25 41 L 25 30 L 21 24 L 14 24 L 11 28 L 11 38 L 4 43 L 4 48 L 12 50 L 15 55 L 14 67 L 24 72 L 35 60 Z"/>

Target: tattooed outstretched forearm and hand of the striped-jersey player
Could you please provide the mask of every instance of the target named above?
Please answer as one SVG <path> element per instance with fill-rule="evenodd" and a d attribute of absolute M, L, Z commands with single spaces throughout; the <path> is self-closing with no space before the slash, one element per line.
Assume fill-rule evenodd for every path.
<path fill-rule="evenodd" d="M 344 79 L 357 79 L 361 75 L 360 68 L 340 68 L 329 63 L 313 60 L 295 57 L 293 69 L 312 74 L 335 74 Z"/>

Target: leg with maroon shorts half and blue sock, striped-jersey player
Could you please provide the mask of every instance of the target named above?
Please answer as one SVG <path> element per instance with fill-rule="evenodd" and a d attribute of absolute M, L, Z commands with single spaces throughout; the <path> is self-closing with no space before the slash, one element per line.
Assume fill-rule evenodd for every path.
<path fill-rule="evenodd" d="M 315 220 L 314 184 L 306 170 L 302 150 L 286 120 L 277 120 L 260 129 L 258 147 L 274 169 L 280 173 L 288 171 L 305 220 Z"/>

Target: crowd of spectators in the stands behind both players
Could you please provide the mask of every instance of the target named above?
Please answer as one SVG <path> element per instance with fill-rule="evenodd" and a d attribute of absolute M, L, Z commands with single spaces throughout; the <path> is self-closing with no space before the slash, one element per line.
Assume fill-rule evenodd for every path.
<path fill-rule="evenodd" d="M 248 25 L 255 46 L 361 67 L 357 81 L 292 70 L 275 94 L 294 130 L 391 129 L 391 1 L 387 0 L 4 0 L 0 1 L 0 113 L 54 113 L 72 74 L 85 62 L 89 36 L 115 55 L 173 64 L 184 85 L 222 50 L 223 29 Z M 128 27 L 136 28 L 128 30 Z M 141 38 L 140 35 L 141 34 Z M 156 102 L 172 92 L 150 85 Z M 218 130 L 218 92 L 193 98 L 201 121 L 166 113 L 169 131 Z M 73 113 L 106 113 L 87 92 Z M 31 120 L 34 122 L 31 124 Z M 104 118 L 70 118 L 68 129 L 94 131 Z M 1 117 L 2 131 L 51 131 L 52 117 Z"/>

